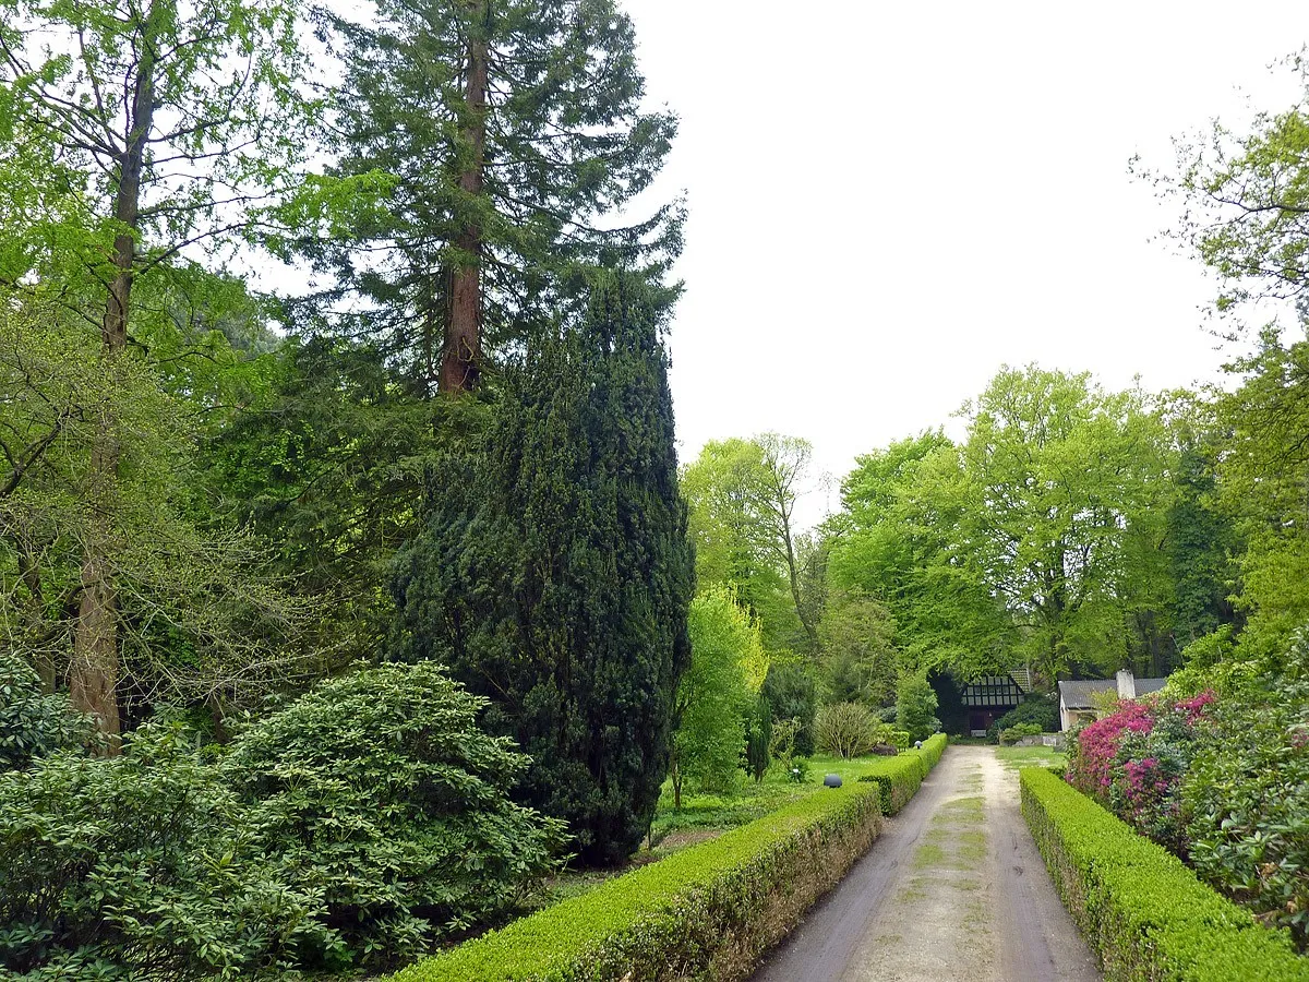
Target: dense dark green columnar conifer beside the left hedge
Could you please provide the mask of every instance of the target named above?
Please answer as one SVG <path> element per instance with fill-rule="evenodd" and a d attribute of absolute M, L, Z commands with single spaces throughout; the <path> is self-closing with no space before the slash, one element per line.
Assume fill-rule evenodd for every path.
<path fill-rule="evenodd" d="M 524 797 L 593 864 L 649 827 L 690 661 L 660 296 L 597 278 L 585 323 L 507 372 L 483 452 L 433 469 L 397 567 L 401 651 L 492 700 L 487 725 L 533 757 Z"/>

